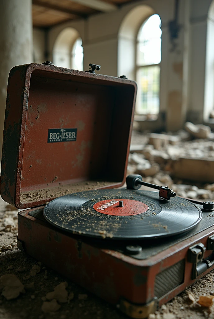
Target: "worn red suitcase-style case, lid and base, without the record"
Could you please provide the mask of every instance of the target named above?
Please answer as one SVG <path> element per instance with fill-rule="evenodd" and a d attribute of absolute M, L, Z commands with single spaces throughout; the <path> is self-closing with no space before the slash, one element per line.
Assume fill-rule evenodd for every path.
<path fill-rule="evenodd" d="M 135 243 L 73 235 L 42 214 L 61 195 L 124 184 L 136 90 L 125 78 L 48 63 L 13 68 L 1 195 L 28 208 L 18 213 L 19 249 L 125 314 L 146 318 L 213 268 L 212 215 L 202 209 L 188 233 Z"/>

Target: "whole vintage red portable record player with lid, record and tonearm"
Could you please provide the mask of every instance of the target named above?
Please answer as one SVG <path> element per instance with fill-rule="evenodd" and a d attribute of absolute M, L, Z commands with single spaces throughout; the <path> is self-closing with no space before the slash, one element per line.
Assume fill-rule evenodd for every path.
<path fill-rule="evenodd" d="M 133 318 L 214 267 L 214 204 L 125 183 L 137 86 L 47 61 L 9 75 L 1 196 L 18 248 Z"/>

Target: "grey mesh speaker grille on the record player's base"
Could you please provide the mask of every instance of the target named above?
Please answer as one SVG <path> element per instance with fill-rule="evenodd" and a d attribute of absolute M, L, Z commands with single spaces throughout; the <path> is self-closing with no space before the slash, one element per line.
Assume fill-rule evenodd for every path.
<path fill-rule="evenodd" d="M 183 282 L 185 259 L 182 259 L 175 265 L 161 271 L 155 277 L 154 295 L 162 297 L 170 290 L 174 289 Z"/>

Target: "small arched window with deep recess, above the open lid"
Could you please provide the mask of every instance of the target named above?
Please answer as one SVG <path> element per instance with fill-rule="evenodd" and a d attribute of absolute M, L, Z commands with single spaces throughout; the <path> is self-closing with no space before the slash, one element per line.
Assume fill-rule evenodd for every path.
<path fill-rule="evenodd" d="M 83 47 L 80 34 L 74 28 L 65 28 L 53 46 L 53 64 L 83 71 Z"/>

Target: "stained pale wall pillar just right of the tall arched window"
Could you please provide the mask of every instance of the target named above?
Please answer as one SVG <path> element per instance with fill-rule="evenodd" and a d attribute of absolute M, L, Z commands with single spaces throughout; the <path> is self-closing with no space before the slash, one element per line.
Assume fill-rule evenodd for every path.
<path fill-rule="evenodd" d="M 179 25 L 181 29 L 173 49 L 168 35 L 168 98 L 166 130 L 177 131 L 186 121 L 189 101 L 189 7 L 190 0 L 179 3 Z M 163 34 L 164 36 L 164 34 Z"/>

